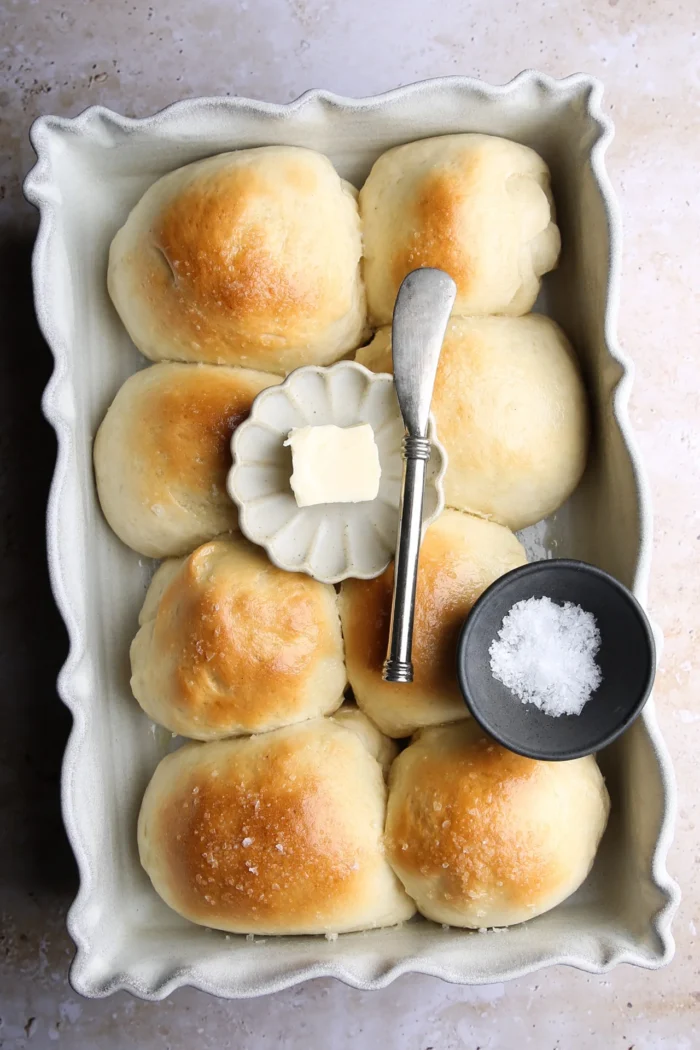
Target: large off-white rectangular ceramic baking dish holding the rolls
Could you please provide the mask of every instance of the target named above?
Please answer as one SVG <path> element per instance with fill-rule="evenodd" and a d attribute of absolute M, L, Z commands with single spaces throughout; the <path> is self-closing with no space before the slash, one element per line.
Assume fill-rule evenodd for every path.
<path fill-rule="evenodd" d="M 191 925 L 155 896 L 140 867 L 135 823 L 166 742 L 129 691 L 128 645 L 151 566 L 116 540 L 96 499 L 91 442 L 111 398 L 143 359 L 111 308 L 107 249 L 143 191 L 166 171 L 222 150 L 291 143 L 321 150 L 360 186 L 398 143 L 485 131 L 533 146 L 553 175 L 564 253 L 540 308 L 577 346 L 594 404 L 584 483 L 532 533 L 540 554 L 574 555 L 613 572 L 644 601 L 652 517 L 630 433 L 631 368 L 615 335 L 620 231 L 603 154 L 612 138 L 601 88 L 575 76 L 526 72 L 504 87 L 450 77 L 370 99 L 311 91 L 290 105 L 195 99 L 146 120 L 101 107 L 41 118 L 26 181 L 41 210 L 36 302 L 56 356 L 44 411 L 59 456 L 48 505 L 56 600 L 70 635 L 59 679 L 75 723 L 63 766 L 63 812 L 81 886 L 68 918 L 75 988 L 127 988 L 161 999 L 184 984 L 243 996 L 333 975 L 379 988 L 405 972 L 458 983 L 503 981 L 551 963 L 601 972 L 657 967 L 673 952 L 678 889 L 669 878 L 675 792 L 653 705 L 600 756 L 611 823 L 586 885 L 549 915 L 506 932 L 401 928 L 251 943 Z"/>

